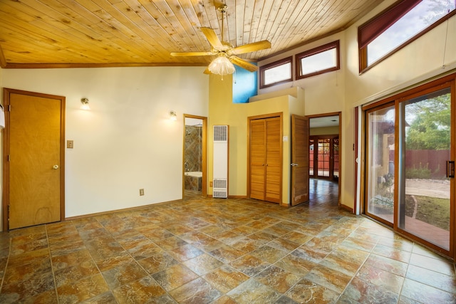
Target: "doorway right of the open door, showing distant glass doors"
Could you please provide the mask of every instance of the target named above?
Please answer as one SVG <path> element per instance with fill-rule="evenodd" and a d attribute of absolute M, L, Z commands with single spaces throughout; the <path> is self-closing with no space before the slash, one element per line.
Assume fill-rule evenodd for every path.
<path fill-rule="evenodd" d="M 341 112 L 309 117 L 309 203 L 341 204 Z"/>

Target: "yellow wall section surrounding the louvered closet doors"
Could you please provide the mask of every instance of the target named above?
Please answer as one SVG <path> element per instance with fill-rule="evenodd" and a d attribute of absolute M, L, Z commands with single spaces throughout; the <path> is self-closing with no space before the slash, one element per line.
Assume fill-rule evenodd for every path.
<path fill-rule="evenodd" d="M 292 93 L 293 95 L 290 95 Z M 289 203 L 290 115 L 304 115 L 304 93 L 299 88 L 284 94 L 261 96 L 251 103 L 232 103 L 232 76 L 209 76 L 208 181 L 212 181 L 212 127 L 229 125 L 229 196 L 247 196 L 247 117 L 282 112 L 282 204 Z M 260 100 L 258 100 L 260 99 Z M 212 188 L 208 187 L 209 195 Z"/>

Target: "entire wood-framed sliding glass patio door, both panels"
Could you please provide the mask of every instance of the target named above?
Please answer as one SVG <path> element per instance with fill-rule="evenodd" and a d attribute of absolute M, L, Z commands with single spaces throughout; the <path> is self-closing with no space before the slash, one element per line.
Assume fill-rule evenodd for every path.
<path fill-rule="evenodd" d="M 364 213 L 452 257 L 454 78 L 365 109 Z"/>

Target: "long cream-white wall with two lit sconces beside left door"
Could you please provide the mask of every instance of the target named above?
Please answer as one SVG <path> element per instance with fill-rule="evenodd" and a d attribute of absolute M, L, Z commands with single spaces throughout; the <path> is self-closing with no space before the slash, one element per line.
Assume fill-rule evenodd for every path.
<path fill-rule="evenodd" d="M 0 79 L 4 88 L 66 97 L 66 140 L 74 140 L 66 149 L 71 217 L 182 199 L 182 115 L 208 115 L 203 70 L 4 69 Z M 79 109 L 83 97 L 90 111 Z"/>

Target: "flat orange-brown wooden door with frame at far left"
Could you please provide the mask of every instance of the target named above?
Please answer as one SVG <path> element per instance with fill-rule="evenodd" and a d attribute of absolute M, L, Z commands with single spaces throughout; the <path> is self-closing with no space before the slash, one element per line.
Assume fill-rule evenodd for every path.
<path fill-rule="evenodd" d="M 65 98 L 4 89 L 4 230 L 64 217 Z"/>

